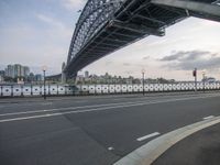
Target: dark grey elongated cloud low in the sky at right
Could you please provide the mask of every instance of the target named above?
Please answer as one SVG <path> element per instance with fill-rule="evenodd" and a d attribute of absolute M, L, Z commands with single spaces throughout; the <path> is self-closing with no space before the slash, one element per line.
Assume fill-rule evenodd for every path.
<path fill-rule="evenodd" d="M 180 51 L 158 61 L 166 62 L 167 64 L 164 66 L 172 69 L 191 70 L 197 67 L 210 70 L 220 68 L 220 54 L 207 51 Z"/>

